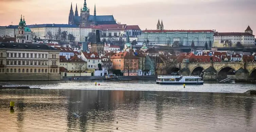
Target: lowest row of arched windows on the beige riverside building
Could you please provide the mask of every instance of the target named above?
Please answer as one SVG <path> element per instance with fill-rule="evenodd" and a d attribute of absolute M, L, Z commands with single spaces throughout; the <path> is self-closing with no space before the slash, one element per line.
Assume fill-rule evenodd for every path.
<path fill-rule="evenodd" d="M 4 73 L 4 69 L 0 70 L 0 72 Z M 16 69 L 16 68 L 7 68 L 6 73 L 47 73 L 47 69 Z M 50 73 L 57 73 L 58 69 L 51 69 Z"/>

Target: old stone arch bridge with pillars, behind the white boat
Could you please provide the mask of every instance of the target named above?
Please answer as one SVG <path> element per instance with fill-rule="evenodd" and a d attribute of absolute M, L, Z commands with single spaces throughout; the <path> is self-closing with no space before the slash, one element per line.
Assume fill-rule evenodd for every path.
<path fill-rule="evenodd" d="M 205 79 L 256 80 L 256 62 L 214 62 L 180 63 L 170 68 L 170 72 L 180 75 L 203 75 Z"/>

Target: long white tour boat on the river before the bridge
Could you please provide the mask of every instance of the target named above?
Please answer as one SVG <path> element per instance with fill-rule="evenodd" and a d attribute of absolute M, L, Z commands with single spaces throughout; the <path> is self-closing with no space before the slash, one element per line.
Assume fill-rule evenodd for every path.
<path fill-rule="evenodd" d="M 159 75 L 157 77 L 157 84 L 203 84 L 203 78 L 199 76 L 182 76 L 182 75 L 174 75 L 174 76 L 164 76 Z"/>

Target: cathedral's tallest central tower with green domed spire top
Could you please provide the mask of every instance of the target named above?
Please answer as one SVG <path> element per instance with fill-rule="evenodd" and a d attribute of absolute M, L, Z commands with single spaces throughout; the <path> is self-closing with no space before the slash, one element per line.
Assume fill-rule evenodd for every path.
<path fill-rule="evenodd" d="M 80 24 L 79 24 L 80 27 L 86 27 L 90 25 L 90 22 L 88 21 L 89 16 L 90 16 L 90 10 L 87 8 L 86 0 L 85 0 L 84 7 L 83 9 L 81 9 L 81 12 L 80 12 Z"/>

